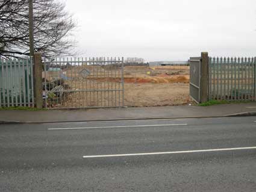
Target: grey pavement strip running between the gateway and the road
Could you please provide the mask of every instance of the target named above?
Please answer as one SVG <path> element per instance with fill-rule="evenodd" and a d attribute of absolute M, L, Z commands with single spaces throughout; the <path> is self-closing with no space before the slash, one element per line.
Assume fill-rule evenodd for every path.
<path fill-rule="evenodd" d="M 0 122 L 78 122 L 120 119 L 164 119 L 222 117 L 232 114 L 256 114 L 256 102 L 209 107 L 170 106 L 146 108 L 106 108 L 91 110 L 0 111 Z"/>

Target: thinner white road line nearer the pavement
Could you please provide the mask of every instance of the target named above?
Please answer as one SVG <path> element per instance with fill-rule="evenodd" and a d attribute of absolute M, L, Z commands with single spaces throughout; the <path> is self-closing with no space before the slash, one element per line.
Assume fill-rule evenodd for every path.
<path fill-rule="evenodd" d="M 167 124 L 167 125 L 125 125 L 125 126 L 92 126 L 88 128 L 49 128 L 48 130 L 63 130 L 63 129 L 102 129 L 102 128 L 140 128 L 140 127 L 147 127 L 147 126 L 180 126 L 180 125 L 187 125 L 184 124 Z"/>

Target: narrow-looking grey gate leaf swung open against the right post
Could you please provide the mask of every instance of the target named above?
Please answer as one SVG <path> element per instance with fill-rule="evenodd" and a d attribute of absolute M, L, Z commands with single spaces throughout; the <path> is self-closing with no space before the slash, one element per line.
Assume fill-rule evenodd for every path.
<path fill-rule="evenodd" d="M 201 57 L 190 58 L 190 98 L 196 103 L 201 101 Z"/>

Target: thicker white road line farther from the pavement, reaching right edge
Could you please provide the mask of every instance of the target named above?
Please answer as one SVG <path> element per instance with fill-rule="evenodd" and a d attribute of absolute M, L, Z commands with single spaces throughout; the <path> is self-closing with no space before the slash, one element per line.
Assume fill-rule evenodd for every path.
<path fill-rule="evenodd" d="M 117 155 L 87 155 L 83 158 L 102 158 L 102 157 L 116 157 L 116 156 L 142 156 L 142 155 L 164 155 L 164 154 L 176 154 L 176 153 L 199 153 L 199 152 L 216 152 L 223 150 L 246 150 L 256 149 L 255 147 L 237 147 L 237 148 L 225 148 L 225 149 L 204 149 L 204 150 L 181 150 L 172 152 L 154 152 L 154 153 L 130 153 L 130 154 L 117 154 Z"/>

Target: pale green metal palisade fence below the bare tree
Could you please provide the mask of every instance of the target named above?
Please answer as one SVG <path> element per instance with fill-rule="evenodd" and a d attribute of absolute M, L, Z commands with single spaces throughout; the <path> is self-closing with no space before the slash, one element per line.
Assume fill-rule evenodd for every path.
<path fill-rule="evenodd" d="M 0 107 L 34 107 L 33 60 L 0 60 Z"/>

